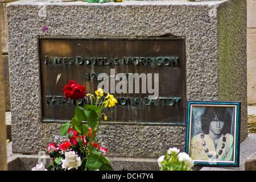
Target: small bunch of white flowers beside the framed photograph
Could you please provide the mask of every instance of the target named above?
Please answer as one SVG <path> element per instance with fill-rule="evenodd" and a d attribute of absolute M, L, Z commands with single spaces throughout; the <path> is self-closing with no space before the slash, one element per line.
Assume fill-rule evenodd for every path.
<path fill-rule="evenodd" d="M 158 158 L 158 166 L 160 171 L 190 171 L 194 162 L 188 154 L 174 147 Z"/>

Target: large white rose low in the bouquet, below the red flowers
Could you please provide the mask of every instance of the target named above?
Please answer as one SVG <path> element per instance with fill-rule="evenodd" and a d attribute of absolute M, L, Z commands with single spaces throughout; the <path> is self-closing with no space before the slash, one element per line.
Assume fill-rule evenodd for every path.
<path fill-rule="evenodd" d="M 65 159 L 61 159 L 61 167 L 64 169 L 72 169 L 81 166 L 81 158 L 76 155 L 75 151 L 65 152 Z"/>

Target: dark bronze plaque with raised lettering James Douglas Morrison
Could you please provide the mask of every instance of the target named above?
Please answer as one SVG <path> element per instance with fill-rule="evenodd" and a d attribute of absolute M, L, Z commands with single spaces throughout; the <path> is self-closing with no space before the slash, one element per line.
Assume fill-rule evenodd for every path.
<path fill-rule="evenodd" d="M 76 104 L 63 92 L 73 80 L 85 93 L 102 88 L 117 98 L 102 123 L 184 125 L 184 38 L 43 37 L 38 43 L 42 122 L 73 118 Z"/>

